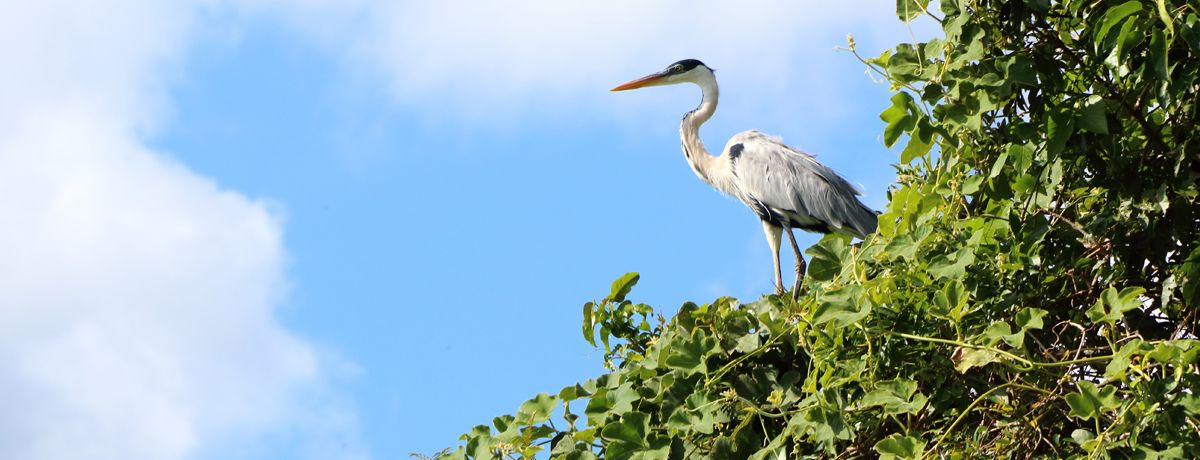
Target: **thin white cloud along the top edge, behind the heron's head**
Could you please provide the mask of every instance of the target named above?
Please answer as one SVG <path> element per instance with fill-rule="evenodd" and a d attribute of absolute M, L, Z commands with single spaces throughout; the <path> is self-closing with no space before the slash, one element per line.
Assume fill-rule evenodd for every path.
<path fill-rule="evenodd" d="M 329 16 L 355 22 L 344 38 L 353 59 L 378 72 L 400 101 L 431 115 L 482 120 L 658 103 L 606 90 L 684 58 L 704 60 L 724 85 L 739 89 L 726 110 L 828 118 L 852 96 L 846 74 L 830 67 L 859 66 L 834 46 L 853 32 L 870 54 L 907 34 L 893 4 L 878 0 L 378 1 L 353 10 Z"/>

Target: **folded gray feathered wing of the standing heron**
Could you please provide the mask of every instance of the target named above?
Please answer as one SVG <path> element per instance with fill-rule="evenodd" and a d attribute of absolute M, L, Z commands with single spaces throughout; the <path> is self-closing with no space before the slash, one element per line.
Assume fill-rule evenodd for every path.
<path fill-rule="evenodd" d="M 860 192 L 816 157 L 757 131 L 734 136 L 724 156 L 731 162 L 738 199 L 781 227 L 863 238 L 877 226 Z"/>

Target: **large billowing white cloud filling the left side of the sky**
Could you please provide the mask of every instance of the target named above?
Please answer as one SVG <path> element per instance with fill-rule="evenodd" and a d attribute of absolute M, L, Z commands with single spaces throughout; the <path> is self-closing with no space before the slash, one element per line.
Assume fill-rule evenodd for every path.
<path fill-rule="evenodd" d="M 288 430 L 354 440 L 352 413 L 313 402 L 330 399 L 312 396 L 329 359 L 274 317 L 280 219 L 139 141 L 166 119 L 164 88 L 205 7 L 0 13 L 6 458 L 220 455 Z M 342 422 L 302 423 L 317 417 Z"/>

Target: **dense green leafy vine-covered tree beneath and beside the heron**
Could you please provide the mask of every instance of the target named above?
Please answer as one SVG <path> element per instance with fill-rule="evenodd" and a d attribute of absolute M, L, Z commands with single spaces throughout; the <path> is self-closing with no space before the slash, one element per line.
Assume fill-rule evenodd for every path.
<path fill-rule="evenodd" d="M 904 145 L 877 234 L 796 301 L 655 321 L 623 276 L 584 306 L 608 374 L 442 455 L 1200 458 L 1200 7 L 896 6 L 944 37 L 850 41 Z"/>

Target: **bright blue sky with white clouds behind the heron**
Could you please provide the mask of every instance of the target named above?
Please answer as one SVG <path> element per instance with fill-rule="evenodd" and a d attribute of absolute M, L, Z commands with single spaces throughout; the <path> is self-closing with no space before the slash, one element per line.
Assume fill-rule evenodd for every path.
<path fill-rule="evenodd" d="M 680 153 L 700 91 L 608 89 L 701 59 L 710 150 L 781 136 L 882 209 L 889 91 L 834 48 L 929 36 L 893 7 L 7 2 L 0 453 L 432 454 L 602 374 L 581 305 L 626 271 L 668 316 L 772 292 Z"/>

